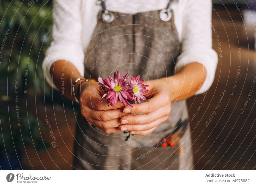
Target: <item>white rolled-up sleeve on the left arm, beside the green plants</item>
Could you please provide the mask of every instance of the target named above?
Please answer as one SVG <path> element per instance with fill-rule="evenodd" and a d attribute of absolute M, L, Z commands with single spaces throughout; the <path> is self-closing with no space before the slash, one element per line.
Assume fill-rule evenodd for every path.
<path fill-rule="evenodd" d="M 82 44 L 81 0 L 54 0 L 52 25 L 47 33 L 52 32 L 51 46 L 46 50 L 43 71 L 46 81 L 57 89 L 52 81 L 50 67 L 57 60 L 73 63 L 84 75 L 84 51 Z M 65 71 L 65 69 L 62 69 Z"/>

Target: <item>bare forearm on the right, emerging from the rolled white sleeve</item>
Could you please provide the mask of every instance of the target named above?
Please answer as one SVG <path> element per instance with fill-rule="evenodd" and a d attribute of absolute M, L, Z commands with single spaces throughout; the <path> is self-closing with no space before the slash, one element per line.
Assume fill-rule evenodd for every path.
<path fill-rule="evenodd" d="M 183 67 L 179 73 L 167 78 L 171 85 L 171 102 L 188 99 L 203 85 L 206 78 L 205 67 L 197 62 Z"/>

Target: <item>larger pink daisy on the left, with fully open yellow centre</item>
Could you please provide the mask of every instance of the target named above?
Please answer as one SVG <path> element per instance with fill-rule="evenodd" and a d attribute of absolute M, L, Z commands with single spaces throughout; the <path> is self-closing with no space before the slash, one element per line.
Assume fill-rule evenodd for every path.
<path fill-rule="evenodd" d="M 114 73 L 114 79 L 110 76 L 108 79 L 100 77 L 98 78 L 101 89 L 105 91 L 102 98 L 106 97 L 111 106 L 116 105 L 119 99 L 124 105 L 128 105 L 132 108 L 132 105 L 128 102 L 128 100 L 133 101 L 133 99 L 129 94 L 129 92 L 132 92 L 132 90 L 126 88 L 128 84 L 126 82 L 127 77 L 128 74 L 120 78 L 120 72 L 118 70 L 117 73 Z"/>

